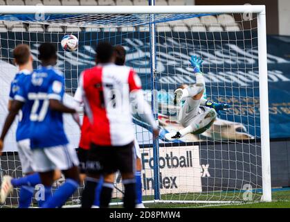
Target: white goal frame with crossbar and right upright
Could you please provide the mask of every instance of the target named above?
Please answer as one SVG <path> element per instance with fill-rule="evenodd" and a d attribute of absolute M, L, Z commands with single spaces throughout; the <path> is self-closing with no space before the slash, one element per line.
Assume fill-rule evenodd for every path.
<path fill-rule="evenodd" d="M 262 162 L 262 201 L 271 201 L 271 164 L 269 142 L 269 101 L 268 101 L 268 75 L 266 51 L 266 12 L 265 6 L 1 6 L 0 15 L 6 14 L 61 14 L 61 15 L 165 15 L 165 14 L 221 14 L 221 13 L 255 13 L 257 15 L 257 50 L 258 75 L 260 94 L 260 142 Z M 150 20 L 154 23 L 154 19 Z M 154 24 L 152 25 L 154 28 Z M 154 42 L 154 41 L 153 41 Z M 155 47 L 155 46 L 153 46 Z M 154 57 L 155 55 L 153 55 Z M 154 63 L 154 62 L 153 62 Z M 153 64 L 153 69 L 155 65 Z M 187 151 L 186 151 L 187 152 Z M 156 162 L 156 160 L 154 160 Z M 1 167 L 1 165 L 0 165 Z M 157 173 L 158 171 L 154 171 Z M 155 175 L 158 178 L 158 175 Z M 155 187 L 158 189 L 158 186 Z M 156 190 L 155 190 L 156 192 Z M 158 194 L 160 195 L 160 194 Z M 155 203 L 158 196 L 154 198 Z M 163 200 L 166 203 L 222 203 L 217 200 Z M 228 201 L 233 202 L 233 201 Z"/>

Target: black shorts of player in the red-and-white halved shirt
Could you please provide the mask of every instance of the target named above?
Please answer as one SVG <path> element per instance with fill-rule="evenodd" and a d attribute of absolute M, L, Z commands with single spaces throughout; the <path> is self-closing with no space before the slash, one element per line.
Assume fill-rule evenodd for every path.
<path fill-rule="evenodd" d="M 100 146 L 91 144 L 87 157 L 87 173 L 134 173 L 134 142 L 125 146 Z"/>

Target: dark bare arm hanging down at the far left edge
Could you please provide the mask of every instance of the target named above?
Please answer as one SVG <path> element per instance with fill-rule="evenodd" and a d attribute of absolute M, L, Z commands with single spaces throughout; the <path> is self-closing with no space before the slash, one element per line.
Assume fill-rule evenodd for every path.
<path fill-rule="evenodd" d="M 21 110 L 23 105 L 24 105 L 24 103 L 21 101 L 14 100 L 11 102 L 10 111 L 8 113 L 8 116 L 6 117 L 5 122 L 4 122 L 4 126 L 2 128 L 2 133 L 1 133 L 1 137 L 0 137 L 0 155 L 2 154 L 3 141 L 8 133 L 8 130 L 10 129 L 13 121 L 15 120 L 15 117 L 17 116 L 19 110 Z"/>

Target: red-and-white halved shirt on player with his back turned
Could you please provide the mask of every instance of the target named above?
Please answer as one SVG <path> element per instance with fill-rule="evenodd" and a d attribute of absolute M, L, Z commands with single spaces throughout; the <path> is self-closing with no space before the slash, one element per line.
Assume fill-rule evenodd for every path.
<path fill-rule="evenodd" d="M 134 140 L 130 92 L 141 80 L 130 67 L 112 63 L 86 69 L 80 76 L 84 108 L 91 121 L 91 142 L 124 146 Z"/>

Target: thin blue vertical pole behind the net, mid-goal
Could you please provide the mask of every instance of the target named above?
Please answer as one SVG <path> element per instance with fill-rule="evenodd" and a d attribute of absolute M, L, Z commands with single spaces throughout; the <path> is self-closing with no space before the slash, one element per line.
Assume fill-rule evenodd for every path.
<path fill-rule="evenodd" d="M 154 6 L 155 0 L 149 0 L 149 6 Z M 149 35 L 150 35 L 150 71 L 151 71 L 151 105 L 152 112 L 156 121 L 158 121 L 158 95 L 156 92 L 156 40 L 155 40 L 155 24 L 154 24 L 154 14 L 150 15 L 149 23 Z M 154 160 L 154 200 L 160 200 L 160 180 L 159 180 L 159 143 L 158 138 L 153 138 L 153 160 Z"/>

